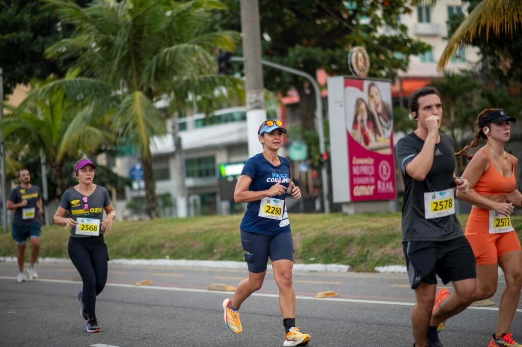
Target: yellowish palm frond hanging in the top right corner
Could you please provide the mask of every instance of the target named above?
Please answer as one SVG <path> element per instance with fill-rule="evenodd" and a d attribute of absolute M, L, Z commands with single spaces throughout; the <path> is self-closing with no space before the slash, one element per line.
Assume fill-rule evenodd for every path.
<path fill-rule="evenodd" d="M 436 0 L 411 1 L 412 5 L 420 5 L 422 3 L 435 5 L 436 2 Z M 501 35 L 510 38 L 513 37 L 517 30 L 521 29 L 521 26 L 522 1 L 482 0 L 462 21 L 448 40 L 438 61 L 438 68 L 443 70 L 460 46 L 473 43 L 473 39 L 482 32 L 485 32 L 486 39 L 489 39 L 490 33 L 493 33 L 497 38 Z"/>

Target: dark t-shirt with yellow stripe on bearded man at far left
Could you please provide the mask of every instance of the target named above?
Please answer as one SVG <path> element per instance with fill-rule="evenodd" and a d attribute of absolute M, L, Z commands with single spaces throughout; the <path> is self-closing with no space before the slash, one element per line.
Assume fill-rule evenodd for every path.
<path fill-rule="evenodd" d="M 38 220 L 38 207 L 36 203 L 40 199 L 40 188 L 31 185 L 31 188 L 22 188 L 18 186 L 11 190 L 8 200 L 19 204 L 23 200 L 27 200 L 27 205 L 17 208 L 13 216 L 13 224 L 16 225 L 31 225 L 33 223 L 40 224 Z M 25 219 L 24 217 L 25 216 Z"/>

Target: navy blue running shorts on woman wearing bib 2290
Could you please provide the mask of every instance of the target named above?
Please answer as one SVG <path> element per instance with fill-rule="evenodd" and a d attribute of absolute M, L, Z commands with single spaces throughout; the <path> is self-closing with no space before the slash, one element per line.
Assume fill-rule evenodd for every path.
<path fill-rule="evenodd" d="M 277 235 L 249 233 L 241 230 L 241 244 L 248 271 L 260 273 L 266 270 L 268 257 L 293 261 L 293 240 L 290 231 Z"/>

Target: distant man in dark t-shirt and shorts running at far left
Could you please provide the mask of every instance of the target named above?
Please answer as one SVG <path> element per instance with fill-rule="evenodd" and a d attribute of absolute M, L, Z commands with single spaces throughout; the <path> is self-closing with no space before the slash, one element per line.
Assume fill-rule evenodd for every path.
<path fill-rule="evenodd" d="M 34 263 L 40 250 L 40 238 L 42 230 L 38 216 L 43 214 L 42 197 L 40 188 L 31 184 L 31 175 L 27 169 L 18 172 L 20 185 L 11 190 L 6 207 L 13 213 L 13 230 L 11 236 L 17 243 L 16 258 L 18 260 L 18 282 L 25 281 L 23 274 L 23 258 L 26 249 L 26 240 L 31 240 L 31 263 L 27 268 L 30 279 L 37 279 L 38 274 L 34 270 Z"/>

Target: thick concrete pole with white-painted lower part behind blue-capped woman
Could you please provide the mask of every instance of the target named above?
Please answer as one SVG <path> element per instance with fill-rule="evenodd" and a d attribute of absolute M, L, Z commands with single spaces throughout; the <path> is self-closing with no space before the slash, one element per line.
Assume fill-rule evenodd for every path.
<path fill-rule="evenodd" d="M 266 121 L 258 0 L 241 0 L 241 32 L 245 57 L 248 157 L 252 157 L 262 150 L 254 134 L 259 125 Z"/>

